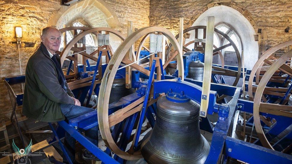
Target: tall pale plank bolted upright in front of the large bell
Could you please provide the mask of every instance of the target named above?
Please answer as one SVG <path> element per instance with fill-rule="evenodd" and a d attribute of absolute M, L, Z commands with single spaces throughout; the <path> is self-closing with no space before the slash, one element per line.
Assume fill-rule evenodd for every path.
<path fill-rule="evenodd" d="M 212 59 L 213 59 L 213 36 L 214 36 L 214 16 L 207 17 L 206 27 L 206 46 L 205 46 L 205 65 L 203 75 L 202 99 L 200 106 L 200 116 L 207 116 L 209 105 L 209 94 L 211 85 Z"/>

